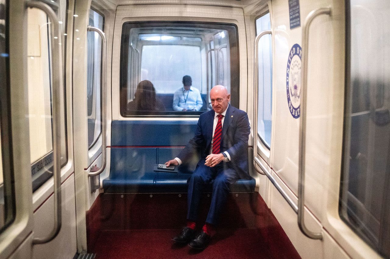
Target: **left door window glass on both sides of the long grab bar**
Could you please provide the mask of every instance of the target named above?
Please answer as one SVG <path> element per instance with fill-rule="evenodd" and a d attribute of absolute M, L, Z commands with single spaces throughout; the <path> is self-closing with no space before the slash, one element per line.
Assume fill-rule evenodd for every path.
<path fill-rule="evenodd" d="M 51 42 L 51 21 L 39 9 L 28 9 L 28 119 L 30 129 L 30 159 L 32 187 L 35 191 L 52 175 L 53 142 L 52 142 L 52 112 L 51 112 L 51 55 L 53 44 L 60 44 L 62 49 L 63 68 L 66 67 L 66 10 L 65 1 L 51 1 L 51 8 L 56 12 L 60 21 L 61 37 Z M 65 69 L 63 69 L 65 73 Z M 62 75 L 63 78 L 64 74 Z M 66 109 L 65 82 L 61 82 L 62 107 L 61 114 L 61 164 L 67 162 L 66 148 Z"/>

